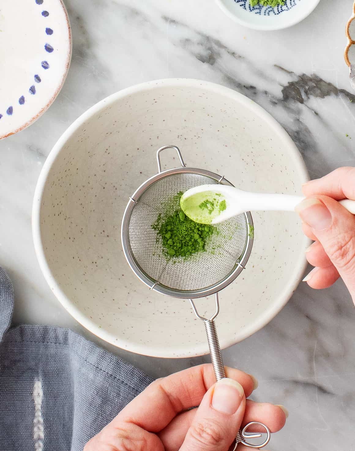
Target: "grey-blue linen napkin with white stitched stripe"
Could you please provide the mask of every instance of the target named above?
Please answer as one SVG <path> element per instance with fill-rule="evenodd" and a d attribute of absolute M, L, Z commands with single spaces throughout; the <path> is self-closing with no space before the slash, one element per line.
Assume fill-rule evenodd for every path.
<path fill-rule="evenodd" d="M 68 329 L 9 328 L 13 306 L 0 268 L 0 451 L 81 451 L 152 380 Z"/>

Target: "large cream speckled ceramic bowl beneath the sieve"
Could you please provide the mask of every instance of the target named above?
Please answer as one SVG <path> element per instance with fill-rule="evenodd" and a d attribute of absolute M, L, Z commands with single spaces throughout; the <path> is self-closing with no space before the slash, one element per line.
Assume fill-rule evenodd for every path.
<path fill-rule="evenodd" d="M 156 174 L 155 152 L 167 143 L 188 166 L 250 191 L 300 193 L 307 180 L 290 137 L 247 97 L 199 80 L 144 83 L 99 102 L 61 136 L 38 180 L 33 237 L 48 284 L 84 327 L 133 352 L 187 357 L 208 352 L 189 302 L 150 291 L 121 249 L 128 198 Z M 178 166 L 173 153 L 165 162 Z M 305 267 L 307 240 L 293 212 L 254 213 L 253 220 L 247 269 L 220 292 L 222 347 L 269 322 Z M 196 304 L 201 314 L 214 311 L 213 298 Z"/>

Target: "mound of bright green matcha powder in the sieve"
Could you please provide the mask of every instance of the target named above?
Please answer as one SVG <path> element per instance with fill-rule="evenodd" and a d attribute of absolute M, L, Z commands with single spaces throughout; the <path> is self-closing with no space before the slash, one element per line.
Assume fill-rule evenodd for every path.
<path fill-rule="evenodd" d="M 181 195 L 179 193 L 175 197 L 180 199 Z M 161 238 L 163 252 L 168 258 L 188 258 L 194 253 L 203 252 L 210 236 L 218 233 L 214 226 L 192 221 L 181 209 L 159 214 L 152 229 L 156 230 L 157 239 Z"/>

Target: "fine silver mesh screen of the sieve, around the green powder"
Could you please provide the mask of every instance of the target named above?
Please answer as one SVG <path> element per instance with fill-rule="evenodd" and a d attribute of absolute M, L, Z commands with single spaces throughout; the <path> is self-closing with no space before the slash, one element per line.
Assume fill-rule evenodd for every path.
<path fill-rule="evenodd" d="M 179 208 L 177 193 L 216 183 L 200 174 L 167 175 L 145 189 L 135 203 L 128 223 L 128 246 L 141 271 L 154 281 L 173 290 L 204 290 L 224 281 L 234 271 L 248 239 L 244 214 L 215 225 L 219 233 L 207 240 L 206 251 L 185 259 L 167 259 L 161 239 L 152 229 L 159 213 Z"/>

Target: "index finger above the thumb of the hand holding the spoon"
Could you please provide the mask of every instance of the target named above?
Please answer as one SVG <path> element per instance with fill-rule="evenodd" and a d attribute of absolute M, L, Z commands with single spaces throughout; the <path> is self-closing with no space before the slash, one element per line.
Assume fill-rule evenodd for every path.
<path fill-rule="evenodd" d="M 355 168 L 342 167 L 321 179 L 311 180 L 303 185 L 306 197 L 324 194 L 336 200 L 355 199 Z"/>

